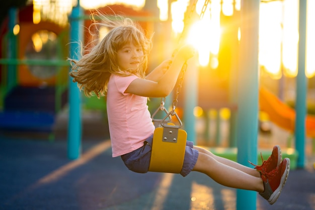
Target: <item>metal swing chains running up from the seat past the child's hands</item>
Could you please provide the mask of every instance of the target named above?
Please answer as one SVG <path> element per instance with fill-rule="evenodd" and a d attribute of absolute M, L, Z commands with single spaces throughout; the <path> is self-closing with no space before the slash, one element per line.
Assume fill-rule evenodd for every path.
<path fill-rule="evenodd" d="M 179 43 L 180 43 L 180 40 L 183 38 L 183 36 L 186 34 L 186 31 L 189 28 L 189 24 L 190 24 L 189 21 L 191 20 L 192 14 L 196 10 L 197 2 L 198 2 L 198 0 L 194 1 L 194 3 L 192 4 L 188 15 L 186 15 L 184 17 L 184 29 L 183 29 L 183 32 L 182 32 L 180 38 L 179 38 Z M 207 6 L 208 6 L 209 2 L 210 2 L 210 0 L 205 0 L 205 3 L 203 5 L 201 13 L 199 15 L 199 19 L 203 18 L 204 13 L 205 13 L 205 11 L 207 9 Z M 175 52 L 176 52 L 176 50 L 175 50 Z M 175 52 L 173 53 L 173 56 L 175 55 Z M 182 86 L 183 86 L 184 74 L 185 74 L 185 72 L 187 70 L 187 66 L 188 66 L 187 65 L 187 61 L 185 61 L 185 63 L 182 66 L 182 69 L 181 69 L 180 77 L 178 78 L 178 81 L 177 81 L 178 85 L 177 85 L 177 89 L 176 89 L 176 96 L 175 96 L 175 98 L 173 100 L 173 104 L 172 104 L 172 111 L 171 111 L 172 112 L 171 113 L 172 116 L 174 115 L 174 112 L 175 112 L 175 109 L 176 109 L 176 106 L 177 106 L 177 103 L 178 103 L 178 97 L 179 97 L 179 94 L 180 94 Z"/>

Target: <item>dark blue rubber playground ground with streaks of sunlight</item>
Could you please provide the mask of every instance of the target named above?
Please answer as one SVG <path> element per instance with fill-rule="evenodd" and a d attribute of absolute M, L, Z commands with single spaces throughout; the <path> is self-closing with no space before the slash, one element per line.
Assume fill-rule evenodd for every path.
<path fill-rule="evenodd" d="M 257 195 L 257 209 L 314 210 L 315 171 L 309 163 L 290 171 L 275 204 Z M 237 191 L 206 175 L 129 171 L 111 157 L 108 140 L 84 140 L 81 158 L 69 160 L 66 141 L 0 135 L 0 168 L 1 210 L 236 209 Z"/>

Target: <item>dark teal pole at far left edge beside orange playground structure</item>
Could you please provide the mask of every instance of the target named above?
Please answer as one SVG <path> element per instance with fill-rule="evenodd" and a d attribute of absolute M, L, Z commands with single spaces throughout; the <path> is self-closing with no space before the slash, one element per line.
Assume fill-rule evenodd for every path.
<path fill-rule="evenodd" d="M 17 36 L 14 34 L 14 27 L 18 23 L 18 9 L 9 9 L 9 41 L 8 41 L 8 57 L 10 59 L 17 58 Z M 7 91 L 17 84 L 17 65 L 8 65 Z"/>

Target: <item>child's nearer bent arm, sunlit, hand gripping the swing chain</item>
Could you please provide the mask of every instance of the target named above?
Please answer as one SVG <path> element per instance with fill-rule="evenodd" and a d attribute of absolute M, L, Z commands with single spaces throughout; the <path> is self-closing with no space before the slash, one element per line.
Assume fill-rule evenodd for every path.
<path fill-rule="evenodd" d="M 130 83 L 125 93 L 131 93 L 144 97 L 166 97 L 174 89 L 179 73 L 186 60 L 191 58 L 195 50 L 185 45 L 175 55 L 168 71 L 158 81 L 135 79 Z"/>

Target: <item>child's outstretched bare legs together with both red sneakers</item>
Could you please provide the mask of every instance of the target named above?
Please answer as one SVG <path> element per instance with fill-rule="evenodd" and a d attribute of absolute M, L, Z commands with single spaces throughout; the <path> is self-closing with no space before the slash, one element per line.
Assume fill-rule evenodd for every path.
<path fill-rule="evenodd" d="M 275 146 L 272 155 L 258 172 L 225 158 L 213 155 L 207 150 L 194 147 L 199 155 L 193 171 L 208 175 L 214 181 L 227 187 L 255 190 L 270 204 L 276 202 L 290 171 L 290 159 L 281 161 L 280 148 Z M 281 161 L 280 164 L 278 164 Z M 261 176 L 261 177 L 260 177 Z"/>

